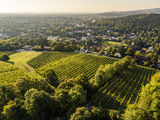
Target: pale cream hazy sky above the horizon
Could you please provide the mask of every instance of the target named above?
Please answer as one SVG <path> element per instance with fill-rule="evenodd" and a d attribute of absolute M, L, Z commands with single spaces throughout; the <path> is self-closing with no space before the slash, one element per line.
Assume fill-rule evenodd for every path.
<path fill-rule="evenodd" d="M 0 13 L 102 13 L 160 8 L 160 0 L 0 0 Z"/>

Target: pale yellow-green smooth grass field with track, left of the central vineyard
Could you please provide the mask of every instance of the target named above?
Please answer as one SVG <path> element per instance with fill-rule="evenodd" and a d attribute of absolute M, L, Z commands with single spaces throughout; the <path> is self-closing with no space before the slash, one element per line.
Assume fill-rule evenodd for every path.
<path fill-rule="evenodd" d="M 35 70 L 27 64 L 27 62 L 34 57 L 40 55 L 41 52 L 19 52 L 10 55 L 10 62 L 19 68 L 22 72 L 27 74 L 31 78 L 42 78 Z"/>

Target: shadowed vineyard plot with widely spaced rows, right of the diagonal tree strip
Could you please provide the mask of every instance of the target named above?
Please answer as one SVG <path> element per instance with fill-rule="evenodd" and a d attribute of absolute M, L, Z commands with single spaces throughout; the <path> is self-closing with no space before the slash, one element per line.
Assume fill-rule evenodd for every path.
<path fill-rule="evenodd" d="M 141 66 L 129 68 L 100 88 L 93 98 L 93 104 L 110 109 L 122 109 L 137 102 L 142 86 L 149 83 L 156 72 L 155 69 Z"/>

